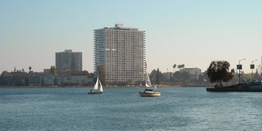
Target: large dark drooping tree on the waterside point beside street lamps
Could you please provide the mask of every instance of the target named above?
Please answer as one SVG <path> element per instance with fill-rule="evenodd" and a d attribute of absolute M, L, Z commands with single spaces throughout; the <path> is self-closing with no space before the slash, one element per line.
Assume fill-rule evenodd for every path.
<path fill-rule="evenodd" d="M 207 68 L 207 75 L 211 83 L 228 82 L 234 77 L 234 69 L 229 70 L 230 64 L 227 61 L 212 61 Z"/>

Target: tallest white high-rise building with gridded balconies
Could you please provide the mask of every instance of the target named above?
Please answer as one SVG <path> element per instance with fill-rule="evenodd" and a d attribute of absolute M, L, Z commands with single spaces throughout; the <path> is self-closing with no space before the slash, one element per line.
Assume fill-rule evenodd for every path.
<path fill-rule="evenodd" d="M 102 64 L 107 82 L 145 80 L 145 31 L 138 28 L 115 27 L 94 29 L 94 75 Z"/>

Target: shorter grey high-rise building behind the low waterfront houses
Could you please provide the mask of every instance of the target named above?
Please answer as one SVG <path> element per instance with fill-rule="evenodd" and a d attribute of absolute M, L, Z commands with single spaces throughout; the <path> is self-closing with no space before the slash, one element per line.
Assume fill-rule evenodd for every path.
<path fill-rule="evenodd" d="M 69 49 L 64 52 L 56 52 L 55 67 L 67 67 L 71 71 L 82 71 L 82 52 L 72 52 Z"/>

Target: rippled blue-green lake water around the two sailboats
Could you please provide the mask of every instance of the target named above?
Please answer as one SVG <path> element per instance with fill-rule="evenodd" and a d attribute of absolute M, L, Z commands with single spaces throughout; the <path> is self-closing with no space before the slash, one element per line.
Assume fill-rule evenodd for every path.
<path fill-rule="evenodd" d="M 262 130 L 261 92 L 158 88 L 160 97 L 140 97 L 138 89 L 0 88 L 0 130 Z"/>

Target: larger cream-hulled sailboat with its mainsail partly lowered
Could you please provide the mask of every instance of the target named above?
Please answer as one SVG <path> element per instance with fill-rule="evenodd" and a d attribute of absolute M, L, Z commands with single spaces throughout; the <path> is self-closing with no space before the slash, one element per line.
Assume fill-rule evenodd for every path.
<path fill-rule="evenodd" d="M 160 96 L 160 91 L 156 91 L 156 86 L 155 86 L 155 89 L 147 89 L 147 87 L 152 87 L 151 86 L 151 82 L 149 80 L 149 76 L 147 74 L 147 63 L 146 63 L 146 80 L 145 80 L 145 90 L 142 91 L 142 90 L 138 90 L 139 92 L 139 95 L 141 97 L 143 96 Z M 155 91 L 154 91 L 155 90 Z"/>

